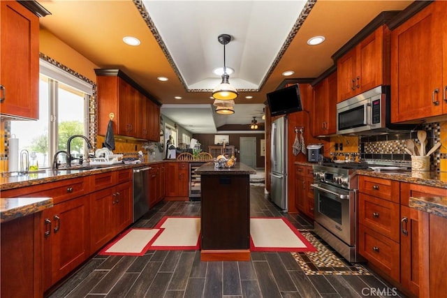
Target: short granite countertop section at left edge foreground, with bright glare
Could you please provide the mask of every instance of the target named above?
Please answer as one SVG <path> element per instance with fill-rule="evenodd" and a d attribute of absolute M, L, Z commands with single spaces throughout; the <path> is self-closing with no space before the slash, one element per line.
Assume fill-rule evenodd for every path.
<path fill-rule="evenodd" d="M 0 223 L 12 221 L 53 207 L 52 198 L 0 199 Z"/>

